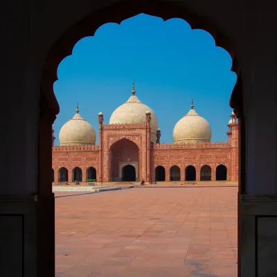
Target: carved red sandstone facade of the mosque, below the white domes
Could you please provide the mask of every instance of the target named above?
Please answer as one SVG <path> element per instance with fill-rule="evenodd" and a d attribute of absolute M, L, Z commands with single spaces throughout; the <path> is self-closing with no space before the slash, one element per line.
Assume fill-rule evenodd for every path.
<path fill-rule="evenodd" d="M 69 182 L 86 181 L 89 168 L 96 170 L 101 183 L 127 181 L 127 165 L 134 167 L 132 181 L 238 181 L 236 119 L 229 123 L 228 142 L 184 144 L 151 143 L 148 118 L 134 124 L 102 125 L 101 118 L 99 122 L 99 145 L 53 147 L 53 181 L 62 181 L 61 168 L 67 170 Z"/>

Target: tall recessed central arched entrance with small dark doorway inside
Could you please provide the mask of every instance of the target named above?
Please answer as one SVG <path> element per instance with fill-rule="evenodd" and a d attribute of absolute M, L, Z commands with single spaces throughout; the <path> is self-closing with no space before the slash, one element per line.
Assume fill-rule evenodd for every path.
<path fill-rule="evenodd" d="M 139 181 L 139 147 L 129 139 L 116 141 L 109 150 L 110 181 Z"/>

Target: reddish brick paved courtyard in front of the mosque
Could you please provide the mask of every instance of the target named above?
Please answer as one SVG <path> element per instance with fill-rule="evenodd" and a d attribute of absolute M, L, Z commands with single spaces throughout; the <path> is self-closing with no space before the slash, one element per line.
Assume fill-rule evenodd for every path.
<path fill-rule="evenodd" d="M 237 192 L 131 188 L 56 198 L 56 276 L 236 277 Z"/>

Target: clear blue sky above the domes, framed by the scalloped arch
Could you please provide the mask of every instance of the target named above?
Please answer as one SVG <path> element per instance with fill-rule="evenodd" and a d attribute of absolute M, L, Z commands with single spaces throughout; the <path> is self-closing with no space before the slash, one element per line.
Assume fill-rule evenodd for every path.
<path fill-rule="evenodd" d="M 212 141 L 227 141 L 229 99 L 236 82 L 231 57 L 215 46 L 209 33 L 191 30 L 183 19 L 163 21 L 140 14 L 120 25 L 105 24 L 75 45 L 57 75 L 55 145 L 77 102 L 82 117 L 96 130 L 98 143 L 99 111 L 109 123 L 114 109 L 131 96 L 133 80 L 136 96 L 157 115 L 161 142 L 173 142 L 173 128 L 188 113 L 191 98 L 211 125 Z"/>

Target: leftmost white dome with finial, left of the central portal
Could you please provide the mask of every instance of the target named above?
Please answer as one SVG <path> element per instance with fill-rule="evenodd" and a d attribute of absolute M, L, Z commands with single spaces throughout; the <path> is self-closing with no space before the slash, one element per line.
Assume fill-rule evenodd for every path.
<path fill-rule="evenodd" d="M 76 114 L 60 129 L 60 145 L 91 145 L 96 142 L 96 132 L 93 127 L 82 118 L 77 106 Z"/>

